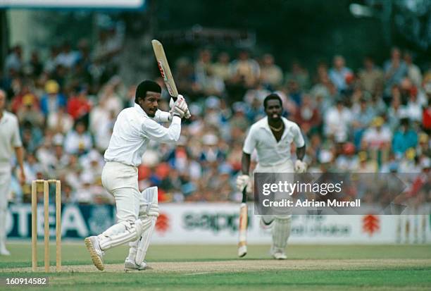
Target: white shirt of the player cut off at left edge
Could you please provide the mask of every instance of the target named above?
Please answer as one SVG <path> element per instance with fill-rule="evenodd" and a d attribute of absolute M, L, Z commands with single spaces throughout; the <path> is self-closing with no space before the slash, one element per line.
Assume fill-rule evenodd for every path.
<path fill-rule="evenodd" d="M 0 167 L 10 168 L 15 147 L 22 147 L 18 118 L 8 111 L 3 111 L 0 119 Z"/>

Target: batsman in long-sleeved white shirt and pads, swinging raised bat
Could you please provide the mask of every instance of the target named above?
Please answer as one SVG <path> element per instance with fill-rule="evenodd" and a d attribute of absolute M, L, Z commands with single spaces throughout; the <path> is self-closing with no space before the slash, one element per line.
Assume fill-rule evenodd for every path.
<path fill-rule="evenodd" d="M 188 112 L 181 95 L 171 111 L 158 110 L 161 87 L 153 81 L 141 82 L 135 94 L 135 106 L 118 114 L 113 134 L 105 151 L 102 184 L 115 197 L 117 223 L 101 235 L 87 237 L 85 245 L 96 268 L 104 270 L 104 251 L 130 242 L 126 269 L 144 270 L 146 250 L 158 217 L 157 187 L 138 190 L 137 166 L 150 140 L 177 142 L 181 118 Z M 169 128 L 157 122 L 171 121 Z"/>

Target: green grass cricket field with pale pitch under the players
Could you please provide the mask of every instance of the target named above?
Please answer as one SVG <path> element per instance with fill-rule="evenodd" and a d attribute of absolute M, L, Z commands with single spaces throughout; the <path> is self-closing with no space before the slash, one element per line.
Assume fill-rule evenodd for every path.
<path fill-rule="evenodd" d="M 8 249 L 12 256 L 0 256 L 0 278 L 28 277 L 30 242 Z M 122 264 L 126 253 L 125 247 L 110 250 L 100 272 L 84 244 L 63 244 L 63 272 L 49 273 L 49 286 L 31 290 L 431 290 L 430 245 L 290 245 L 286 261 L 270 259 L 268 246 L 250 246 L 239 260 L 235 246 L 154 245 L 147 256 L 154 269 L 128 273 Z M 41 244 L 39 266 L 42 260 Z"/>

